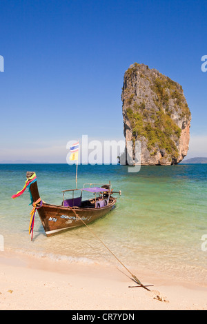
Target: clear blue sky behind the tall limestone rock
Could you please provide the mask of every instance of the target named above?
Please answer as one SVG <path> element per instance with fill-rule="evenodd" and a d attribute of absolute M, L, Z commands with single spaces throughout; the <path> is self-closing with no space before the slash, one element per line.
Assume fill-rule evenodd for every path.
<path fill-rule="evenodd" d="M 66 144 L 124 139 L 132 63 L 180 83 L 192 113 L 188 158 L 207 156 L 207 1 L 1 0 L 0 161 L 66 162 Z"/>

